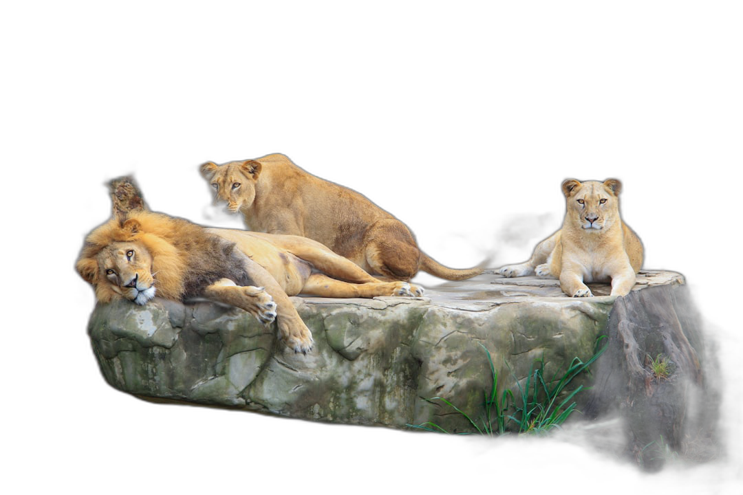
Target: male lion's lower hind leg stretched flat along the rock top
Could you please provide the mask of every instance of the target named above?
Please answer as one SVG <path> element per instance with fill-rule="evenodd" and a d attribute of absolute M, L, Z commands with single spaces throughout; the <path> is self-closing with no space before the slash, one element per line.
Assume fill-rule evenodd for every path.
<path fill-rule="evenodd" d="M 321 298 L 374 298 L 380 295 L 418 297 L 423 293 L 423 287 L 413 283 L 403 281 L 348 283 L 318 272 L 310 275 L 300 292 L 301 295 L 314 295 Z"/>

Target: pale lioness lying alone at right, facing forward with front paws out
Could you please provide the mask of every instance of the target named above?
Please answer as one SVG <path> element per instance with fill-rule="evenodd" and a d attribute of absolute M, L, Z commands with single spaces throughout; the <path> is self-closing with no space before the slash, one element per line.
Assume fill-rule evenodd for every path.
<path fill-rule="evenodd" d="M 621 191 L 619 179 L 565 180 L 568 212 L 562 229 L 539 243 L 526 263 L 503 266 L 496 273 L 557 278 L 562 291 L 576 298 L 593 295 L 585 282 L 611 280 L 611 295 L 627 295 L 643 264 L 643 245 L 620 217 Z"/>

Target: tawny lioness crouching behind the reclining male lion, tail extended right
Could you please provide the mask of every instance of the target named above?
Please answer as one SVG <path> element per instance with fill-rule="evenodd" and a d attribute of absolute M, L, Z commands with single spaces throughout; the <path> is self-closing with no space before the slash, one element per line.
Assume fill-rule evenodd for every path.
<path fill-rule="evenodd" d="M 213 206 L 241 214 L 247 229 L 317 240 L 383 280 L 411 281 L 426 272 L 445 281 L 480 275 L 450 269 L 418 247 L 410 230 L 356 191 L 308 174 L 282 154 L 224 165 L 202 163 Z"/>

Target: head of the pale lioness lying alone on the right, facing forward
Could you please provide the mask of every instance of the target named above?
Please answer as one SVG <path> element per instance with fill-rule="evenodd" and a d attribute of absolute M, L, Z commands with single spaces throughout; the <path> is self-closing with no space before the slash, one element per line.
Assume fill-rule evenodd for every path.
<path fill-rule="evenodd" d="M 620 221 L 619 194 L 622 181 L 607 179 L 604 183 L 595 180 L 580 183 L 568 179 L 562 183 L 562 192 L 568 198 L 566 221 L 580 226 L 585 232 L 600 232 Z"/>

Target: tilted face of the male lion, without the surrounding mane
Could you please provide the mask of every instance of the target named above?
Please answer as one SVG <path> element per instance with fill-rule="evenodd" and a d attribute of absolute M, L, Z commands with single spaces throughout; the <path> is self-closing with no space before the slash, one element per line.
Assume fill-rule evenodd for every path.
<path fill-rule="evenodd" d="M 142 243 L 111 243 L 98 253 L 97 264 L 97 292 L 109 289 L 137 304 L 155 297 L 152 256 Z"/>

